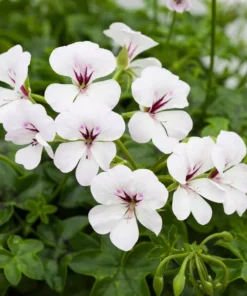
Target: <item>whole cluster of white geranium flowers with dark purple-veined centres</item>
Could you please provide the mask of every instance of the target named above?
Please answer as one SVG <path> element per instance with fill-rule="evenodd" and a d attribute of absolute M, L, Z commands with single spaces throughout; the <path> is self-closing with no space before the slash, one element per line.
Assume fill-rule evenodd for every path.
<path fill-rule="evenodd" d="M 189 9 L 190 2 L 168 1 L 167 5 L 181 12 Z M 116 143 L 124 152 L 127 149 L 119 140 L 125 121 L 112 111 L 120 100 L 121 87 L 115 75 L 112 79 L 109 75 L 128 71 L 140 109 L 132 112 L 129 133 L 135 142 L 152 140 L 164 155 L 171 154 L 167 169 L 175 181 L 171 184 L 175 190 L 172 209 L 177 219 L 185 220 L 192 213 L 198 223 L 208 223 L 212 208 L 205 199 L 223 204 L 228 215 L 235 211 L 242 215 L 247 209 L 247 166 L 240 163 L 246 155 L 243 140 L 227 131 L 216 140 L 186 139 L 193 123 L 180 109 L 188 106 L 189 85 L 155 58 L 134 60 L 157 43 L 123 23 L 112 24 L 104 33 L 127 52 L 125 67 L 118 69 L 117 58 L 109 50 L 89 41 L 56 48 L 50 65 L 57 74 L 71 78 L 71 84 L 49 85 L 42 105 L 36 103 L 29 86 L 31 55 L 20 45 L 0 55 L 0 81 L 11 88 L 0 88 L 5 139 L 26 145 L 17 151 L 16 163 L 27 170 L 36 168 L 44 148 L 63 173 L 75 169 L 78 183 L 91 186 L 100 203 L 89 212 L 92 228 L 100 234 L 110 233 L 118 248 L 128 251 L 135 245 L 137 221 L 158 235 L 162 218 L 157 210 L 168 199 L 165 185 L 150 168 L 136 169 L 132 160 L 125 162 L 127 166 L 113 162 Z M 59 113 L 55 119 L 47 114 L 45 104 Z M 55 141 L 60 143 L 53 152 Z M 130 157 L 128 151 L 126 156 Z M 103 172 L 98 174 L 99 170 Z"/>

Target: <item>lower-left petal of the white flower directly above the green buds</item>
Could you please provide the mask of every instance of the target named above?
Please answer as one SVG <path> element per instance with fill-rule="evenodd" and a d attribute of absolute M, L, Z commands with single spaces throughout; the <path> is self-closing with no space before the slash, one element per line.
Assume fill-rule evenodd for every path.
<path fill-rule="evenodd" d="M 173 194 L 172 211 L 178 220 L 187 219 L 191 212 L 190 196 L 187 190 L 179 186 Z"/>

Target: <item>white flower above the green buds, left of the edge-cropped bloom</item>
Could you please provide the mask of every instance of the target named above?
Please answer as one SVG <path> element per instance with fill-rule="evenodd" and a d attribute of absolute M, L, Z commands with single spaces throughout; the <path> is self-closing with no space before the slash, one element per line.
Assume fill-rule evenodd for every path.
<path fill-rule="evenodd" d="M 210 137 L 192 137 L 188 143 L 178 144 L 167 160 L 169 173 L 179 183 L 172 203 L 178 220 L 185 220 L 192 213 L 199 224 L 205 225 L 212 217 L 212 209 L 202 196 L 217 203 L 224 201 L 224 191 L 210 179 L 194 179 L 213 168 L 214 145 Z"/>

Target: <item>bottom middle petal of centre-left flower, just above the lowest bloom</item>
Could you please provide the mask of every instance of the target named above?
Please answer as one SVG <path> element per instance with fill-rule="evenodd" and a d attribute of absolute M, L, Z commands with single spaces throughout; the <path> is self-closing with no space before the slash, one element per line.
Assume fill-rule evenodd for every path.
<path fill-rule="evenodd" d="M 89 186 L 93 178 L 98 174 L 98 171 L 99 165 L 95 159 L 92 156 L 87 158 L 84 154 L 76 169 L 76 179 L 80 185 Z"/>

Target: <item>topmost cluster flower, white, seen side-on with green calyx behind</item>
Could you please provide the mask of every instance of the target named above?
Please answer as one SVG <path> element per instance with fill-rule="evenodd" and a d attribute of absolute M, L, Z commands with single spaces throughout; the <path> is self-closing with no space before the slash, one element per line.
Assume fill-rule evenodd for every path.
<path fill-rule="evenodd" d="M 140 73 L 150 66 L 162 67 L 160 61 L 156 58 L 145 58 L 133 61 L 141 52 L 158 45 L 158 43 L 150 37 L 143 35 L 141 32 L 133 31 L 123 23 L 111 24 L 110 28 L 104 31 L 104 34 L 112 38 L 120 46 L 126 46 L 129 58 L 127 68 L 130 68 L 135 75 L 140 76 Z"/>

